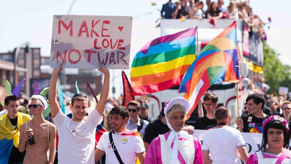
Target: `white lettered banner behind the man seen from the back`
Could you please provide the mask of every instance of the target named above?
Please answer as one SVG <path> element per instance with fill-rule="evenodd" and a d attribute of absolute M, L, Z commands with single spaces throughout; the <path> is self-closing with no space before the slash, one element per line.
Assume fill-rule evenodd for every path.
<path fill-rule="evenodd" d="M 193 130 L 193 137 L 197 138 L 202 146 L 203 144 L 203 139 L 202 136 L 207 130 Z M 245 141 L 245 148 L 247 149 L 247 153 L 249 156 L 252 153 L 255 153 L 259 149 L 261 149 L 261 143 L 262 143 L 262 138 L 263 134 L 262 133 L 245 133 L 241 132 L 242 138 Z M 213 137 L 215 139 L 215 137 Z M 217 141 L 219 142 L 219 141 Z M 290 149 L 290 147 L 289 147 Z M 211 153 L 211 152 L 210 152 Z M 243 163 L 243 162 L 242 162 Z"/>

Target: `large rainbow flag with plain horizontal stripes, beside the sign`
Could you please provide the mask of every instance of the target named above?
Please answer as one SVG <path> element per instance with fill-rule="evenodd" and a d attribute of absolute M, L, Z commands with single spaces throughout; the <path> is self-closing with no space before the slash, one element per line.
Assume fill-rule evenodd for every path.
<path fill-rule="evenodd" d="M 148 42 L 132 62 L 132 95 L 147 95 L 180 85 L 194 60 L 195 27 Z"/>

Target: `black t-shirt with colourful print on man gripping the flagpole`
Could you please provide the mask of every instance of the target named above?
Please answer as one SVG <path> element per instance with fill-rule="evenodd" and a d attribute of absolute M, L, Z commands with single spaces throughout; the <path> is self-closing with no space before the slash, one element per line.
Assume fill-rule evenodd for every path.
<path fill-rule="evenodd" d="M 262 130 L 262 124 L 263 121 L 270 116 L 267 115 L 264 118 L 257 118 L 254 115 L 245 115 L 242 116 L 242 121 L 243 121 L 243 132 L 249 132 L 249 133 L 263 133 Z"/>

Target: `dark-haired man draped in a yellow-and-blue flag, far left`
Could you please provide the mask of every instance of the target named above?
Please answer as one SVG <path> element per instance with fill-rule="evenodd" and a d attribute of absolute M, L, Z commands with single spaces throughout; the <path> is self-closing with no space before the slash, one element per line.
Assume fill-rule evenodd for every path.
<path fill-rule="evenodd" d="M 18 112 L 19 100 L 15 95 L 4 100 L 7 113 L 0 118 L 0 163 L 21 163 L 25 151 L 18 149 L 20 125 L 31 120 L 28 114 Z"/>

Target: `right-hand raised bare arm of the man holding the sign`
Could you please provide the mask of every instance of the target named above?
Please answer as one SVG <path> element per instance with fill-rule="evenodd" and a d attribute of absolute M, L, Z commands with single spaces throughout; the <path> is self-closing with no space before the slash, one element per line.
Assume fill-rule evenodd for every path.
<path fill-rule="evenodd" d="M 102 116 L 105 105 L 108 99 L 108 94 L 109 94 L 109 86 L 110 86 L 110 73 L 109 70 L 105 67 L 102 66 L 101 63 L 99 63 L 99 66 L 101 69 L 98 69 L 98 71 L 102 72 L 104 74 L 104 81 L 103 81 L 103 87 L 100 93 L 100 100 L 96 104 L 96 109 L 99 112 L 99 114 Z"/>

